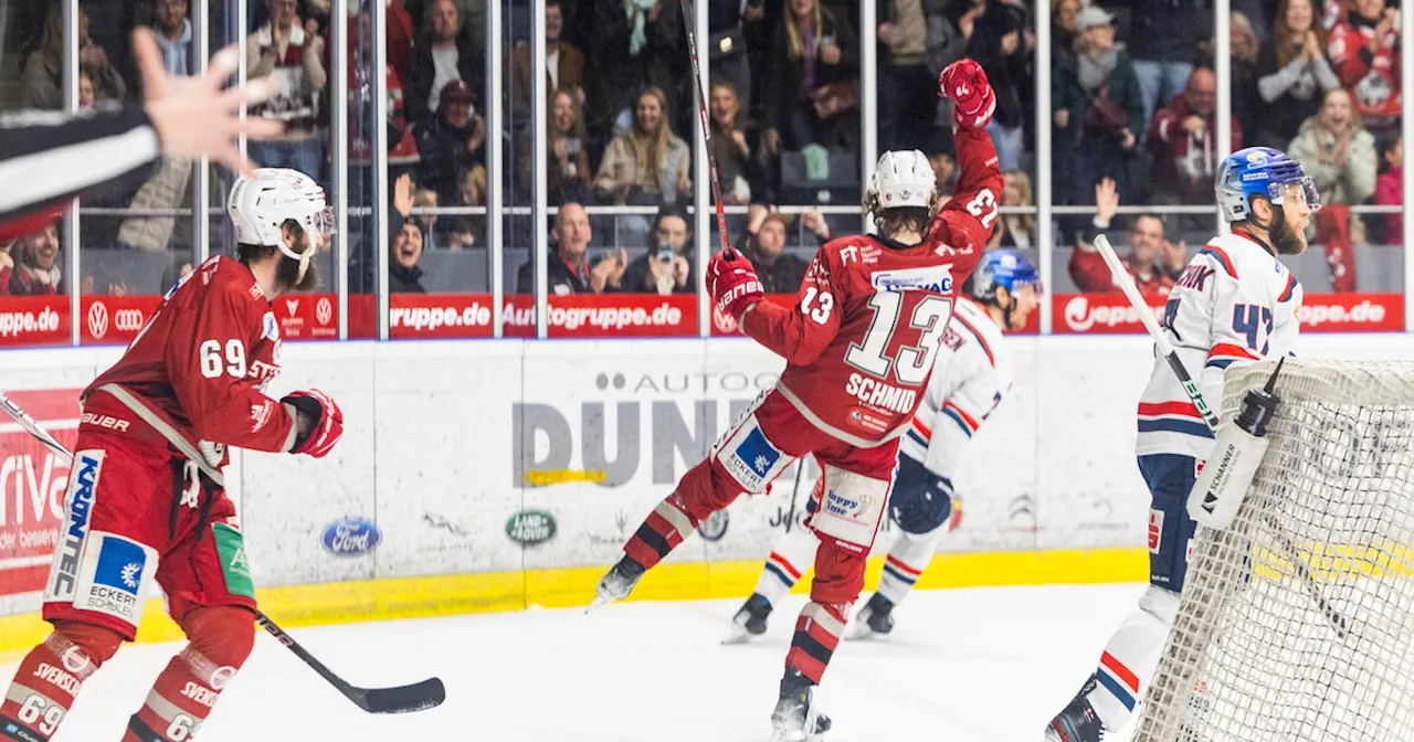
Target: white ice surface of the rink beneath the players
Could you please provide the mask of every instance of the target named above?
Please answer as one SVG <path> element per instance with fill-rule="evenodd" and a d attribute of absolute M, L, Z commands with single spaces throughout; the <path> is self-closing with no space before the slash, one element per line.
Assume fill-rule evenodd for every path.
<path fill-rule="evenodd" d="M 919 591 L 887 640 L 840 644 L 819 694 L 834 718 L 826 742 L 1039 742 L 1141 591 Z M 445 681 L 445 704 L 402 717 L 363 714 L 262 632 L 198 739 L 766 742 L 803 602 L 789 596 L 745 646 L 720 644 L 740 601 L 291 630 L 355 685 Z M 89 680 L 55 742 L 116 742 L 178 647 L 124 647 Z M 13 673 L 0 667 L 0 680 Z"/>

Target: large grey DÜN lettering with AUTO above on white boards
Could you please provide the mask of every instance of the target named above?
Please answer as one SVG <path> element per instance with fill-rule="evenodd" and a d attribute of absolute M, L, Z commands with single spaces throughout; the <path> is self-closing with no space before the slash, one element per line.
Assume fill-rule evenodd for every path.
<path fill-rule="evenodd" d="M 542 476 L 584 471 L 595 472 L 595 485 L 617 488 L 633 481 L 641 464 L 650 465 L 655 485 L 672 485 L 686 471 L 679 462 L 701 461 L 730 421 L 776 383 L 766 372 L 601 370 L 578 379 L 587 383 L 567 376 L 547 387 L 574 401 L 512 403 L 510 486 L 584 486 Z"/>

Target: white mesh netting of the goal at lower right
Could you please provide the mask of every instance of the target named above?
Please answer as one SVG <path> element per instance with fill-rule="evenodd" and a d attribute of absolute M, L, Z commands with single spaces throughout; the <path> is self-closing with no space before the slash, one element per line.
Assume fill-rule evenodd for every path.
<path fill-rule="evenodd" d="M 1135 741 L 1414 741 L 1414 363 L 1294 360 L 1237 519 L 1193 538 Z M 1274 367 L 1229 370 L 1225 421 Z"/>

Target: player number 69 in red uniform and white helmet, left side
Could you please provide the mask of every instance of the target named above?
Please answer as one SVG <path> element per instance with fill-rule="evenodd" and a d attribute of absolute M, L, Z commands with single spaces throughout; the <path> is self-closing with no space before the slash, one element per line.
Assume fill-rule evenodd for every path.
<path fill-rule="evenodd" d="M 232 188 L 239 260 L 212 257 L 168 291 L 113 367 L 83 390 L 64 527 L 44 592 L 52 633 L 0 702 L 0 739 L 54 736 L 83 681 L 132 640 L 156 581 L 189 643 L 157 677 L 123 742 L 185 742 L 255 644 L 256 598 L 226 447 L 321 458 L 344 432 L 325 394 L 263 393 L 280 373 L 271 300 L 318 283 L 329 212 L 293 170 Z"/>

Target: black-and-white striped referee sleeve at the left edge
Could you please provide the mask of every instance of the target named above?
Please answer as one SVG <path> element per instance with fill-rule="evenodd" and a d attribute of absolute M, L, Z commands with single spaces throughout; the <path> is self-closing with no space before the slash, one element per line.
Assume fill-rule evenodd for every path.
<path fill-rule="evenodd" d="M 157 160 L 141 103 L 0 116 L 0 222 L 68 201 Z"/>

